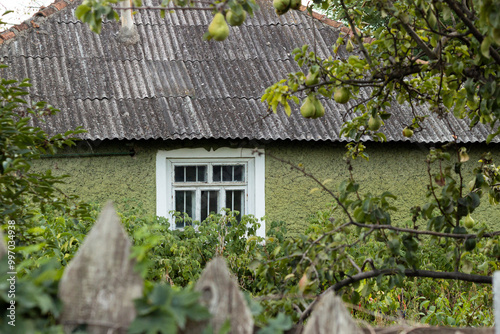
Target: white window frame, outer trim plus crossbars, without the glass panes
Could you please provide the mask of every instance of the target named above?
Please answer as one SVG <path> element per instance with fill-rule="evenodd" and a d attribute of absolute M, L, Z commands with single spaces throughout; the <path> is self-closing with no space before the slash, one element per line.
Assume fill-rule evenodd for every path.
<path fill-rule="evenodd" d="M 259 150 L 264 153 L 264 150 Z M 175 165 L 196 165 L 203 163 L 212 164 L 245 164 L 246 185 L 235 182 L 234 189 L 246 187 L 246 214 L 253 214 L 261 223 L 257 235 L 265 237 L 265 156 L 256 154 L 249 148 L 219 148 L 207 151 L 204 148 L 182 148 L 171 151 L 159 150 L 156 154 L 156 215 L 166 217 L 170 221 L 170 228 L 175 229 L 175 220 L 170 212 L 175 208 L 173 171 Z M 186 190 L 197 188 L 205 190 L 211 187 L 207 183 L 186 184 Z M 223 186 L 230 190 L 232 185 L 225 183 Z M 178 189 L 177 187 L 176 189 Z M 215 189 L 215 188 L 212 188 Z M 220 196 L 220 194 L 219 194 Z M 221 201 L 222 203 L 222 201 Z M 198 209 L 197 209 L 198 210 Z"/>

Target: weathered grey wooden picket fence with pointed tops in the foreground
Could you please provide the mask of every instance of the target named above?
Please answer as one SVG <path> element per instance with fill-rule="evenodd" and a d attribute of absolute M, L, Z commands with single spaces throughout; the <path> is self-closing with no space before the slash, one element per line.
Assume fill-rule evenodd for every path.
<path fill-rule="evenodd" d="M 63 312 L 59 319 L 65 332 L 86 324 L 93 334 L 126 333 L 135 318 L 133 300 L 142 296 L 142 278 L 133 271 L 131 241 L 111 204 L 106 205 L 96 224 L 85 238 L 73 260 L 66 267 L 59 285 Z M 183 334 L 198 334 L 211 326 L 218 333 L 230 321 L 233 334 L 252 334 L 254 326 L 250 309 L 230 275 L 223 258 L 213 259 L 196 283 L 201 292 L 199 302 L 208 308 L 212 318 L 207 323 L 190 322 Z M 461 329 L 398 326 L 360 328 L 351 318 L 341 298 L 325 295 L 315 306 L 305 326 L 296 326 L 289 334 L 326 333 L 488 333 L 493 328 Z"/>

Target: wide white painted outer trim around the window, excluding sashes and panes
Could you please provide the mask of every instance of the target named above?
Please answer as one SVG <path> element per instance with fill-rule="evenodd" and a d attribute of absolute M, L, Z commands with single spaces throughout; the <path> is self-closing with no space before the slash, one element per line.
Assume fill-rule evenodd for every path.
<path fill-rule="evenodd" d="M 257 235 L 265 237 L 266 224 L 263 218 L 266 212 L 266 166 L 264 150 L 261 149 L 259 152 L 262 154 L 254 153 L 254 150 L 249 148 L 228 147 L 219 148 L 215 151 L 213 149 L 208 151 L 204 148 L 181 148 L 171 151 L 159 150 L 156 154 L 156 215 L 169 218 L 171 228 L 175 228 L 175 224 L 168 213 L 169 199 L 172 198 L 172 188 L 168 186 L 172 184 L 172 176 L 168 172 L 172 168 L 172 163 L 169 160 L 182 159 L 182 161 L 194 162 L 197 159 L 217 161 L 218 159 L 247 158 L 248 213 L 253 213 L 261 223 L 261 227 L 257 230 Z"/>

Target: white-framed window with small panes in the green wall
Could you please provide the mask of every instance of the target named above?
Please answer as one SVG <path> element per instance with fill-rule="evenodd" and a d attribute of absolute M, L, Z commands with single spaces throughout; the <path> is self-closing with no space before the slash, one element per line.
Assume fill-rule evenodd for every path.
<path fill-rule="evenodd" d="M 222 208 L 253 214 L 265 212 L 265 160 L 252 149 L 220 148 L 216 151 L 178 149 L 157 154 L 157 215 L 168 217 L 171 228 L 183 228 L 189 221 L 174 221 L 171 211 L 185 212 L 203 221 Z M 264 236 L 261 222 L 258 234 Z"/>

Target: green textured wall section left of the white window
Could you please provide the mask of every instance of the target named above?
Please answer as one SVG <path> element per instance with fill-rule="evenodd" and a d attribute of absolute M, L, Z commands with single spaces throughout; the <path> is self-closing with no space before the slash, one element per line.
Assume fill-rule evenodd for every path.
<path fill-rule="evenodd" d="M 156 206 L 157 149 L 154 145 L 147 142 L 133 146 L 119 141 L 79 142 L 76 148 L 58 154 L 127 152 L 132 147 L 136 152 L 133 157 L 46 158 L 37 161 L 34 170 L 52 169 L 53 174 L 70 175 L 63 190 L 86 201 L 103 204 L 112 200 L 119 208 L 125 205 L 142 207 L 152 215 Z"/>

